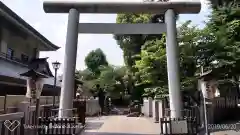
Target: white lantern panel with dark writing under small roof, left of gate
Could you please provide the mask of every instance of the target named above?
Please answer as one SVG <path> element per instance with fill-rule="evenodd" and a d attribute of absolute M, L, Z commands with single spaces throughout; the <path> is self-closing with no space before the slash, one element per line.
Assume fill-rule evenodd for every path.
<path fill-rule="evenodd" d="M 32 78 L 27 79 L 27 98 L 39 99 L 43 89 L 43 78 L 34 80 Z"/>

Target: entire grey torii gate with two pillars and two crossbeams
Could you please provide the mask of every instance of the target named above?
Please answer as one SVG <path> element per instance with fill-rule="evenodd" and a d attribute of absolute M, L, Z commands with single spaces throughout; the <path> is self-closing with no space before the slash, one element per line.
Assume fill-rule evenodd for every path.
<path fill-rule="evenodd" d="M 176 14 L 199 13 L 199 0 L 167 2 L 151 1 L 45 1 L 46 13 L 68 13 L 64 72 L 60 98 L 59 117 L 71 115 L 64 110 L 72 109 L 74 78 L 77 57 L 78 33 L 95 34 L 161 34 L 166 32 L 167 70 L 171 117 L 181 117 L 182 101 L 180 94 L 178 44 Z M 80 13 L 149 13 L 165 14 L 165 23 L 115 24 L 79 23 Z"/>

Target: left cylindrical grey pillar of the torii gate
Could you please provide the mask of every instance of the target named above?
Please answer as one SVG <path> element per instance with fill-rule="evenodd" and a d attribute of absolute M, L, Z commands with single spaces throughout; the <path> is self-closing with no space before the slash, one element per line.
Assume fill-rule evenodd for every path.
<path fill-rule="evenodd" d="M 72 8 L 69 10 L 59 117 L 72 115 L 79 15 L 76 9 Z"/>

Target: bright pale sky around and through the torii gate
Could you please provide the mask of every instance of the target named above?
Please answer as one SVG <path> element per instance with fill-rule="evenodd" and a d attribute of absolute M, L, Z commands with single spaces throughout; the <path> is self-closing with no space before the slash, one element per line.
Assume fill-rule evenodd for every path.
<path fill-rule="evenodd" d="M 49 62 L 64 61 L 65 38 L 67 28 L 67 14 L 46 14 L 43 11 L 42 0 L 1 0 L 5 5 L 11 8 L 15 13 L 22 17 L 26 22 L 43 34 L 51 42 L 60 46 L 56 52 L 41 52 L 40 57 L 49 57 Z M 199 27 L 204 26 L 206 16 L 209 15 L 208 2 L 201 0 L 202 9 L 199 14 L 180 15 L 179 23 L 186 20 L 192 20 L 193 24 Z M 114 23 L 116 14 L 83 14 L 80 15 L 80 22 L 102 22 Z M 78 55 L 77 69 L 84 69 L 84 58 L 96 48 L 101 48 L 107 56 L 107 60 L 113 65 L 123 65 L 122 50 L 116 44 L 112 35 L 94 35 L 79 34 L 78 38 Z M 63 70 L 63 64 L 60 72 Z"/>

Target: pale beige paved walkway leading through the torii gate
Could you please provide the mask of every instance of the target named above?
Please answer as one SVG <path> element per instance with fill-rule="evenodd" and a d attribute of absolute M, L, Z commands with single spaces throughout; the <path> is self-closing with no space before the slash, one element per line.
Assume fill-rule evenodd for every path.
<path fill-rule="evenodd" d="M 159 135 L 160 125 L 150 118 L 103 116 L 87 120 L 83 135 Z"/>

